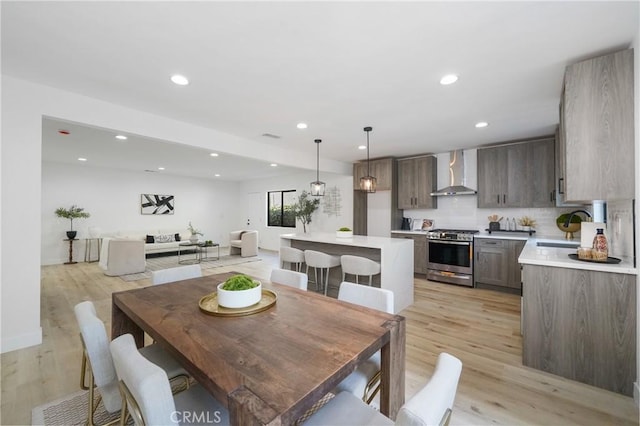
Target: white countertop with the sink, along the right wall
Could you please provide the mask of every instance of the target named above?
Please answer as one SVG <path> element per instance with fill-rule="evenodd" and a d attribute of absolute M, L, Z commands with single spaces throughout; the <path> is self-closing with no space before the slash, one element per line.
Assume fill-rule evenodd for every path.
<path fill-rule="evenodd" d="M 518 262 L 524 265 L 554 266 L 558 268 L 583 269 L 587 271 L 613 272 L 616 274 L 637 275 L 638 269 L 633 266 L 633 258 L 625 256 L 615 256 L 621 259 L 620 263 L 599 263 L 574 260 L 569 254 L 576 253 L 575 248 L 562 247 L 542 247 L 538 242 L 560 242 L 566 240 L 529 238 L 525 244 Z M 579 240 L 577 241 L 579 242 Z"/>

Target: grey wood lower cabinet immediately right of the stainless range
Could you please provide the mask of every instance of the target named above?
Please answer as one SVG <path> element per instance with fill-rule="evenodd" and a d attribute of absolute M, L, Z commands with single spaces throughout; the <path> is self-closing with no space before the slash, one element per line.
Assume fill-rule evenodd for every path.
<path fill-rule="evenodd" d="M 474 239 L 473 281 L 478 288 L 520 294 L 518 256 L 526 241 Z"/>

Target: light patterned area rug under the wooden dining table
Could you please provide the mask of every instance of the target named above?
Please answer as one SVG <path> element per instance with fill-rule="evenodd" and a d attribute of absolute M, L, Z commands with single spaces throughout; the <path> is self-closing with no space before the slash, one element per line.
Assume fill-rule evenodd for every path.
<path fill-rule="evenodd" d="M 332 393 L 325 395 L 294 424 L 302 424 L 333 397 Z M 98 392 L 96 392 L 96 398 L 98 398 Z M 87 391 L 79 391 L 31 410 L 31 424 L 46 426 L 83 425 L 87 421 L 88 409 Z M 95 424 L 106 424 L 117 419 L 119 415 L 120 413 L 109 414 L 104 409 L 104 405 L 99 404 L 94 415 Z M 131 418 L 128 420 L 127 424 L 133 424 Z"/>

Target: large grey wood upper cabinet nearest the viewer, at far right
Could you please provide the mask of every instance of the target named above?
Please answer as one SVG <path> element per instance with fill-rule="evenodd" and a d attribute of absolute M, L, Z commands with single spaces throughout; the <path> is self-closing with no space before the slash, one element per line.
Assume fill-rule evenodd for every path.
<path fill-rule="evenodd" d="M 632 199 L 633 49 L 567 67 L 558 192 L 570 202 Z"/>

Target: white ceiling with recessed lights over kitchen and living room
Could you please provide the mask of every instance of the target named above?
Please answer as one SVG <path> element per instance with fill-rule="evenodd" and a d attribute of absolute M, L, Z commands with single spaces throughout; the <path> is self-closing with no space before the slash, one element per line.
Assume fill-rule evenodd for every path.
<path fill-rule="evenodd" d="M 564 68 L 629 47 L 639 25 L 637 1 L 3 1 L 1 7 L 3 74 L 292 155 L 315 155 L 313 140 L 320 138 L 323 158 L 345 162 L 365 156 L 357 145 L 365 142 L 367 125 L 372 157 L 551 134 Z M 440 85 L 451 72 L 460 80 Z M 191 84 L 172 84 L 174 73 Z M 489 127 L 474 128 L 480 120 Z M 309 128 L 296 129 L 300 121 Z M 55 133 L 62 124 L 46 127 Z M 75 126 L 70 136 L 102 140 L 96 132 L 105 133 Z M 190 157 L 208 152 L 180 141 L 134 137 L 114 145 L 113 132 L 103 137 L 104 143 L 84 139 L 89 152 L 65 160 L 61 153 L 78 141 L 46 133 L 43 159 L 86 156 L 115 166 L 131 155 L 136 163 L 132 146 L 148 154 L 154 143 L 155 163 L 131 167 L 153 169 L 163 158 L 180 158 L 190 165 L 186 174 L 210 176 L 215 168 L 210 157 Z M 257 164 L 249 166 L 255 171 Z"/>

